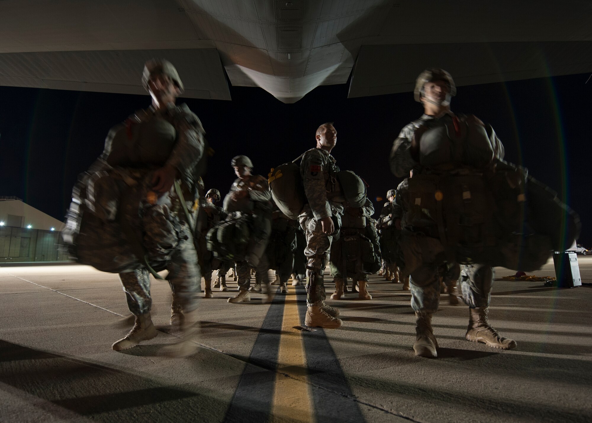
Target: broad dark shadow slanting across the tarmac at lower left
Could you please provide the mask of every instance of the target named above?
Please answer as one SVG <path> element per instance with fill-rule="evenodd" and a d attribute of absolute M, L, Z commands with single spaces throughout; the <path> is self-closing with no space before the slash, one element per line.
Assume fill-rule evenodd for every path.
<path fill-rule="evenodd" d="M 151 347 L 159 346 L 147 345 L 143 350 Z M 227 406 L 216 400 L 214 395 L 160 386 L 155 380 L 139 374 L 2 340 L 0 382 L 102 422 L 155 421 L 165 415 L 170 421 L 185 421 L 188 411 L 195 415 L 204 412 L 201 419 L 208 421 L 207 414 L 211 415 L 213 409 Z M 210 412 L 204 410 L 204 404 Z M 59 409 L 56 411 L 43 403 L 38 406 L 58 417 L 66 417 L 59 414 Z"/>

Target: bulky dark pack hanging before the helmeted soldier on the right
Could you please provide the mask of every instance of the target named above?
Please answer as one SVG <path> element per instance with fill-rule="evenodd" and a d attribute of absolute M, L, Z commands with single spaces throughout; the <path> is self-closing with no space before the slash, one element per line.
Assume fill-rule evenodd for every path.
<path fill-rule="evenodd" d="M 580 219 L 524 169 L 413 175 L 401 224 L 442 243 L 448 261 L 534 271 L 577 238 Z M 407 258 L 406 258 L 407 261 Z"/>

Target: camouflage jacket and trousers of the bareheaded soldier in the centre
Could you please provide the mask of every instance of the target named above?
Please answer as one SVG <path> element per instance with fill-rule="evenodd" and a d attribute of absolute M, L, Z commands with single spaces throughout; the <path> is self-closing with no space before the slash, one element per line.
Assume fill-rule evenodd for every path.
<path fill-rule="evenodd" d="M 332 217 L 336 232 L 343 214 L 345 198 L 340 193 L 339 183 L 334 177 L 339 172 L 336 160 L 327 150 L 313 148 L 304 153 L 300 163 L 300 175 L 304 184 L 308 204 L 298 221 L 306 232 L 304 254 L 307 264 L 307 306 L 322 306 L 326 298 L 323 281 L 324 268 L 329 261 L 333 235 L 323 232 L 320 220 Z"/>

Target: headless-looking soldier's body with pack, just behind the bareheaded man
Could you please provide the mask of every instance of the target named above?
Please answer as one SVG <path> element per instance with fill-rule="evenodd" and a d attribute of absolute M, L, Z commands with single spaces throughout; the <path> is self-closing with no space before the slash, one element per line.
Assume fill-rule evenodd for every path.
<path fill-rule="evenodd" d="M 331 245 L 330 269 L 335 283 L 332 300 L 343 296 L 345 281 L 352 278 L 352 291 L 358 284 L 358 296 L 362 300 L 371 300 L 368 293 L 368 274 L 378 269 L 368 269 L 368 265 L 379 265 L 380 250 L 378 234 L 371 222 L 374 206 L 369 198 L 362 207 L 346 207 L 342 217 L 339 239 Z"/>

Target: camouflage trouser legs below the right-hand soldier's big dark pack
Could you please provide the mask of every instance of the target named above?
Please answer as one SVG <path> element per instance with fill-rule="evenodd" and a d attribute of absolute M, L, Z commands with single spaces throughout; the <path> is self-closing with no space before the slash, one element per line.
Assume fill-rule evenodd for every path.
<path fill-rule="evenodd" d="M 461 266 L 462 300 L 471 308 L 487 307 L 491 301 L 493 267 L 472 264 Z M 446 278 L 446 275 L 443 275 Z M 411 308 L 416 312 L 435 313 L 440 301 L 440 275 L 435 264 L 422 265 L 411 273 Z"/>

